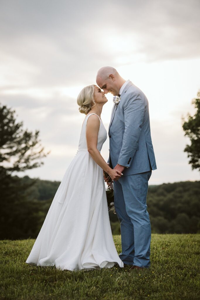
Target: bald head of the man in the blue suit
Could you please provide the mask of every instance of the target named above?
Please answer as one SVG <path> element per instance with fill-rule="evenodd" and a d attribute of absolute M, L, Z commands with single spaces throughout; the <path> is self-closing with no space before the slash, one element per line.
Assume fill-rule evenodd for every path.
<path fill-rule="evenodd" d="M 102 67 L 97 72 L 96 82 L 104 90 L 105 94 L 111 93 L 113 96 L 117 96 L 125 80 L 115 68 Z"/>

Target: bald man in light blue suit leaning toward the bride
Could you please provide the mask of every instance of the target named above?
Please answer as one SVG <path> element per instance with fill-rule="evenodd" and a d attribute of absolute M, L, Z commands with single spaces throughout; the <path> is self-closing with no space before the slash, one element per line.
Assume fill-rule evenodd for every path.
<path fill-rule="evenodd" d="M 115 210 L 121 227 L 120 259 L 130 269 L 150 266 L 151 224 L 147 211 L 148 180 L 156 170 L 149 106 L 144 93 L 113 67 L 97 72 L 97 85 L 118 96 L 109 125 L 109 166 L 124 175 L 114 181 Z M 116 98 L 115 98 L 116 100 Z"/>

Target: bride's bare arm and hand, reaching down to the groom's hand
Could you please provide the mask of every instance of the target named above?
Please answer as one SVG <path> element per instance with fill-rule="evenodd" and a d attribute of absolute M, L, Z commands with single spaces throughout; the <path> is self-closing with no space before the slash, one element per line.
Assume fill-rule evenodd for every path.
<path fill-rule="evenodd" d="M 96 115 L 89 116 L 86 124 L 86 141 L 87 141 L 88 152 L 90 153 L 94 161 L 104 171 L 106 171 L 113 180 L 118 180 L 123 174 L 118 170 L 111 169 L 109 165 L 106 163 L 106 161 L 104 161 L 99 150 L 97 149 L 99 127 L 100 127 L 100 120 L 98 116 Z"/>

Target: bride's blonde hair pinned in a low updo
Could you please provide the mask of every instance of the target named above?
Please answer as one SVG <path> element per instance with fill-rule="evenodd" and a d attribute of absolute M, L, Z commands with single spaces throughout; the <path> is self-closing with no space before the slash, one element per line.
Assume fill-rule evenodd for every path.
<path fill-rule="evenodd" d="M 84 113 L 87 115 L 91 108 L 95 105 L 94 102 L 94 87 L 96 85 L 88 85 L 83 88 L 78 97 L 77 97 L 77 104 L 79 105 L 79 112 Z"/>

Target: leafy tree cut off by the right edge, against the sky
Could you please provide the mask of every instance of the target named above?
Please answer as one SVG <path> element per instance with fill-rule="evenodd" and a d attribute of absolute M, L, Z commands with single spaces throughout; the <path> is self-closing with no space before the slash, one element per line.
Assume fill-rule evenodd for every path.
<path fill-rule="evenodd" d="M 187 152 L 187 157 L 190 158 L 189 164 L 193 169 L 199 169 L 200 171 L 200 91 L 197 93 L 197 98 L 193 99 L 192 104 L 197 109 L 194 116 L 188 114 L 188 120 L 183 120 L 183 130 L 185 136 L 188 136 L 191 141 L 191 145 L 186 145 L 184 152 Z"/>

